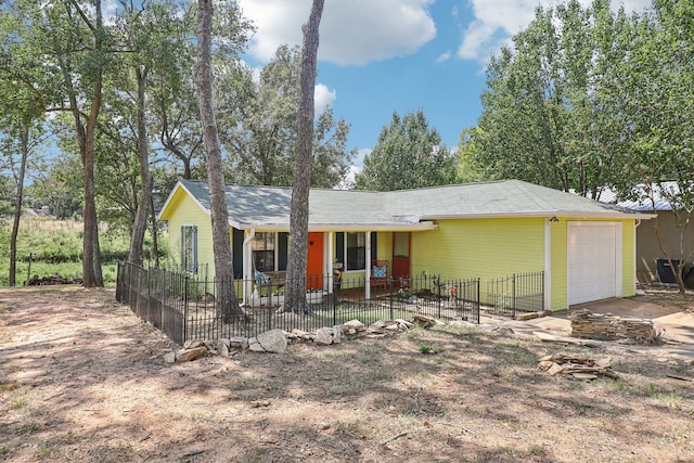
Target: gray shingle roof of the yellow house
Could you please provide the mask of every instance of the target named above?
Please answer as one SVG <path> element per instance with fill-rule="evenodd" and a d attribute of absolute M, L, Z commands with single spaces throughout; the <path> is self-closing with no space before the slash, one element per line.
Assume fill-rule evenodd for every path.
<path fill-rule="evenodd" d="M 207 182 L 180 183 L 209 211 Z M 229 218 L 236 228 L 288 229 L 291 203 L 291 188 L 227 185 Z M 311 190 L 309 209 L 309 228 L 314 230 L 415 230 L 446 218 L 650 217 L 519 180 L 394 192 Z"/>

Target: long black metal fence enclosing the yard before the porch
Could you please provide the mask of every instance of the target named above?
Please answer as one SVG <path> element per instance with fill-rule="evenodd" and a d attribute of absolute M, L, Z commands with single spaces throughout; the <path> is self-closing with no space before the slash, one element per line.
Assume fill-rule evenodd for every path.
<path fill-rule="evenodd" d="M 370 298 L 363 279 L 344 279 L 339 283 L 313 279 L 307 287 L 333 284 L 333 291 L 307 291 L 305 313 L 280 310 L 284 303 L 283 282 L 256 285 L 255 281 L 235 280 L 230 284 L 240 300 L 245 287 L 246 300 L 240 305 L 240 313 L 230 317 L 218 313 L 215 283 L 120 263 L 116 298 L 179 344 L 196 338 L 250 337 L 272 329 L 312 332 L 354 319 L 369 325 L 382 319 L 408 319 L 414 313 L 479 323 L 478 279 L 389 279 L 384 285 L 370 287 Z"/>

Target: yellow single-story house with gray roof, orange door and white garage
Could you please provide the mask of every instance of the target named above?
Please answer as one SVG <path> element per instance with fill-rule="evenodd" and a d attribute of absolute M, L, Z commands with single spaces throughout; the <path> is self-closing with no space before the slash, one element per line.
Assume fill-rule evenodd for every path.
<path fill-rule="evenodd" d="M 236 278 L 286 268 L 291 197 L 291 188 L 227 187 Z M 480 278 L 483 291 L 488 280 L 543 271 L 550 310 L 633 295 L 635 226 L 653 217 L 517 180 L 311 190 L 309 207 L 308 275 L 333 275 L 339 263 L 346 279 L 364 280 L 369 297 L 374 259 L 388 260 L 394 278 Z M 179 181 L 158 217 L 169 224 L 172 260 L 214 271 L 206 182 Z M 250 292 L 248 283 L 244 300 Z"/>

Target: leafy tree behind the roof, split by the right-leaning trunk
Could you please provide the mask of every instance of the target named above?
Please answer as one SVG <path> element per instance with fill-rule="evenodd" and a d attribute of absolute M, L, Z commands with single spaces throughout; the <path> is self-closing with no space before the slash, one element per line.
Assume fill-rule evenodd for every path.
<path fill-rule="evenodd" d="M 222 138 L 234 181 L 292 185 L 300 74 L 300 50 L 281 46 L 262 68 L 258 83 L 245 88 L 246 108 L 239 119 L 241 130 Z M 355 154 L 347 150 L 349 125 L 344 119 L 335 120 L 329 106 L 318 116 L 314 126 L 311 185 L 332 188 L 343 180 Z"/>

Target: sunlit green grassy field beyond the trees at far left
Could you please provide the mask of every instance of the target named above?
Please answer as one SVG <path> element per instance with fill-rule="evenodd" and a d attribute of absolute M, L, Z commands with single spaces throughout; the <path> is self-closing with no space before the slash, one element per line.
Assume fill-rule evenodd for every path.
<path fill-rule="evenodd" d="M 22 285 L 33 275 L 60 273 L 65 278 L 82 274 L 82 222 L 47 218 L 23 219 L 17 237 L 16 282 Z M 10 226 L 0 231 L 3 252 L 0 256 L 0 286 L 8 286 L 10 269 Z M 130 236 L 102 228 L 100 246 L 104 284 L 115 286 L 118 261 L 128 256 Z"/>

